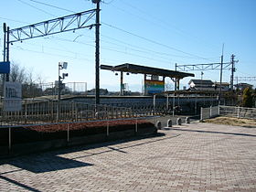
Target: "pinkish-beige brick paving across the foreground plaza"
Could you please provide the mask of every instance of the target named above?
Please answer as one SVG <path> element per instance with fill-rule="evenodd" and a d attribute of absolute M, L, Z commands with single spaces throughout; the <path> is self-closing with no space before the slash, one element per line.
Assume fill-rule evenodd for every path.
<path fill-rule="evenodd" d="M 256 191 L 256 128 L 160 133 L 0 160 L 0 191 Z"/>

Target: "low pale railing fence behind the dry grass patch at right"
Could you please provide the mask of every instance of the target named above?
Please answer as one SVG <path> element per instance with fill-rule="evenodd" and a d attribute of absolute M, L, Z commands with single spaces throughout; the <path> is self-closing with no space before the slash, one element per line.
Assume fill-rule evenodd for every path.
<path fill-rule="evenodd" d="M 219 106 L 219 114 L 222 116 L 256 119 L 256 108 Z"/>

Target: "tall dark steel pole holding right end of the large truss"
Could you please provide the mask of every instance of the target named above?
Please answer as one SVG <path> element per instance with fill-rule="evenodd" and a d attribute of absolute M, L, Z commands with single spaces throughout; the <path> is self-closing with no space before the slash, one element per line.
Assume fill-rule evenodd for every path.
<path fill-rule="evenodd" d="M 92 0 L 96 4 L 95 28 L 95 104 L 100 104 L 100 3 L 101 0 Z"/>

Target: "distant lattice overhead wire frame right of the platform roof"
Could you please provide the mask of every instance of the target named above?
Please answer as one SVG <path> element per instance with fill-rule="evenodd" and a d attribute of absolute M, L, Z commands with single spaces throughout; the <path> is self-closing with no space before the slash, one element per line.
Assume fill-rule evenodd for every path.
<path fill-rule="evenodd" d="M 223 69 L 229 69 L 230 62 L 223 63 Z M 190 64 L 190 65 L 176 65 L 177 70 L 212 70 L 220 69 L 221 63 L 208 63 L 208 64 Z"/>

